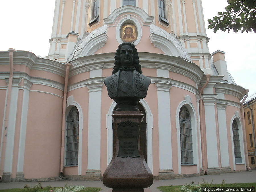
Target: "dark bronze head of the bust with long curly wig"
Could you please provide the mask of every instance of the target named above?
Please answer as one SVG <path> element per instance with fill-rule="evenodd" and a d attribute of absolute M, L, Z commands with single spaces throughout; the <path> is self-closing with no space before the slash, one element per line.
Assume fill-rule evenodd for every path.
<path fill-rule="evenodd" d="M 136 71 L 142 74 L 138 51 L 130 42 L 122 43 L 118 46 L 114 64 L 112 74 L 116 73 L 120 67 L 135 67 Z"/>

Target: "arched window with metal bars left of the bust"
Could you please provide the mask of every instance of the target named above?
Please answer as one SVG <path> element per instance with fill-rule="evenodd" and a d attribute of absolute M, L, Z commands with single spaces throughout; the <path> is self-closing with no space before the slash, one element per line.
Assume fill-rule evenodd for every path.
<path fill-rule="evenodd" d="M 79 112 L 74 106 L 67 117 L 66 166 L 78 166 Z"/>

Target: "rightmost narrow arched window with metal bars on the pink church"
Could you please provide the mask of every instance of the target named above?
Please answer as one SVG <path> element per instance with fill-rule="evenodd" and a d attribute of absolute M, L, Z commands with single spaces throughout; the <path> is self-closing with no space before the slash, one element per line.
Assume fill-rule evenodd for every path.
<path fill-rule="evenodd" d="M 234 153 L 235 153 L 235 162 L 241 163 L 241 149 L 240 149 L 240 139 L 239 139 L 239 129 L 236 120 L 232 123 L 232 130 L 233 130 L 233 141 L 234 141 Z"/>

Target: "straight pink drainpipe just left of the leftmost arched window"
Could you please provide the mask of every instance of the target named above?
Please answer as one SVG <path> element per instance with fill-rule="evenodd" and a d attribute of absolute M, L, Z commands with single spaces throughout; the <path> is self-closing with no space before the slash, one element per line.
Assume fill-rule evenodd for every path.
<path fill-rule="evenodd" d="M 65 65 L 66 65 L 66 75 L 65 75 L 63 106 L 62 106 L 60 177 L 63 177 L 63 174 L 64 174 L 65 116 L 66 116 L 66 102 L 67 102 L 67 85 L 69 80 L 69 67 L 71 66 L 71 64 L 65 63 Z"/>

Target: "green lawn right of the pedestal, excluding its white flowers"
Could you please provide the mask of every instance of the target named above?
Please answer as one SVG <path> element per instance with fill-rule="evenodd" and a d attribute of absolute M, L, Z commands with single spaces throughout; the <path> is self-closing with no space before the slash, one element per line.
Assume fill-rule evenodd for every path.
<path fill-rule="evenodd" d="M 256 183 L 200 183 L 201 187 L 256 187 Z M 180 187 L 182 185 L 160 186 L 157 187 L 160 191 L 164 192 L 181 192 Z"/>

